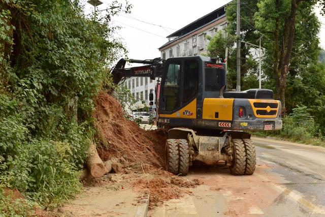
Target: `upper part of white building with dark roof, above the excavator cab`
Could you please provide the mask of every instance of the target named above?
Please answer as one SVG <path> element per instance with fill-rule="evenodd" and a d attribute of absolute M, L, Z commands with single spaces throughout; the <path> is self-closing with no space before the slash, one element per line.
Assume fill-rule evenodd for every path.
<path fill-rule="evenodd" d="M 219 30 L 226 26 L 225 6 L 197 19 L 194 22 L 167 36 L 169 41 L 159 47 L 161 58 L 168 59 L 177 56 L 194 56 L 207 52 L 209 40 Z"/>

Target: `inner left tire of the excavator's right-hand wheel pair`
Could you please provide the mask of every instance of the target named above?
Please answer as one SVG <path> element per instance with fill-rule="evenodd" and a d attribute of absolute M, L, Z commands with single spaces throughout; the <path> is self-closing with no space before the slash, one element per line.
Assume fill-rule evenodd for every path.
<path fill-rule="evenodd" d="M 230 167 L 233 175 L 243 175 L 246 168 L 246 152 L 244 142 L 241 139 L 233 139 L 234 160 Z"/>

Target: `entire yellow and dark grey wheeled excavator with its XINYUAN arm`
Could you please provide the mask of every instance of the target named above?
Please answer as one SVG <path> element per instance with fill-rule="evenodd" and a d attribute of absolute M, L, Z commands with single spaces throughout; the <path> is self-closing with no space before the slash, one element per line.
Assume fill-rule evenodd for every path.
<path fill-rule="evenodd" d="M 113 81 L 123 77 L 157 79 L 157 127 L 168 130 L 166 170 L 186 175 L 193 161 L 225 162 L 234 175 L 251 175 L 255 146 L 245 131 L 280 130 L 281 103 L 269 89 L 226 90 L 222 58 L 206 56 L 137 60 L 140 67 L 124 68 L 120 59 Z M 149 95 L 153 105 L 153 95 Z"/>

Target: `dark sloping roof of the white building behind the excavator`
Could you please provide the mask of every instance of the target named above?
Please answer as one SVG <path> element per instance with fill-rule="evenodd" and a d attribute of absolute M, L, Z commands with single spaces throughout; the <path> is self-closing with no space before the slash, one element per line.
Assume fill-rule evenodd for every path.
<path fill-rule="evenodd" d="M 216 20 L 222 18 L 225 16 L 225 6 L 222 6 L 214 11 L 212 11 L 211 13 L 197 19 L 196 21 L 193 21 L 191 23 L 189 23 L 188 25 L 180 28 L 179 30 L 177 30 L 176 32 L 172 33 L 171 35 L 167 36 L 166 38 L 174 38 L 173 40 L 170 40 L 169 42 L 167 42 L 166 44 L 164 44 L 163 46 L 159 47 L 158 49 L 161 49 L 167 45 L 169 45 L 170 43 L 172 43 L 174 40 L 178 40 L 212 22 L 215 22 Z"/>

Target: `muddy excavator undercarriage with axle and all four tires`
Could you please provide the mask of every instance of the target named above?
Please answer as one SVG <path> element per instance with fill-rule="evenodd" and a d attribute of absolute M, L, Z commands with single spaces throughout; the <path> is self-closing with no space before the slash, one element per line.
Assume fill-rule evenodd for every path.
<path fill-rule="evenodd" d="M 223 131 L 218 136 L 197 134 L 188 128 L 173 128 L 166 141 L 166 170 L 186 175 L 193 161 L 215 165 L 224 161 L 234 175 L 251 175 L 256 164 L 250 134 Z"/>

